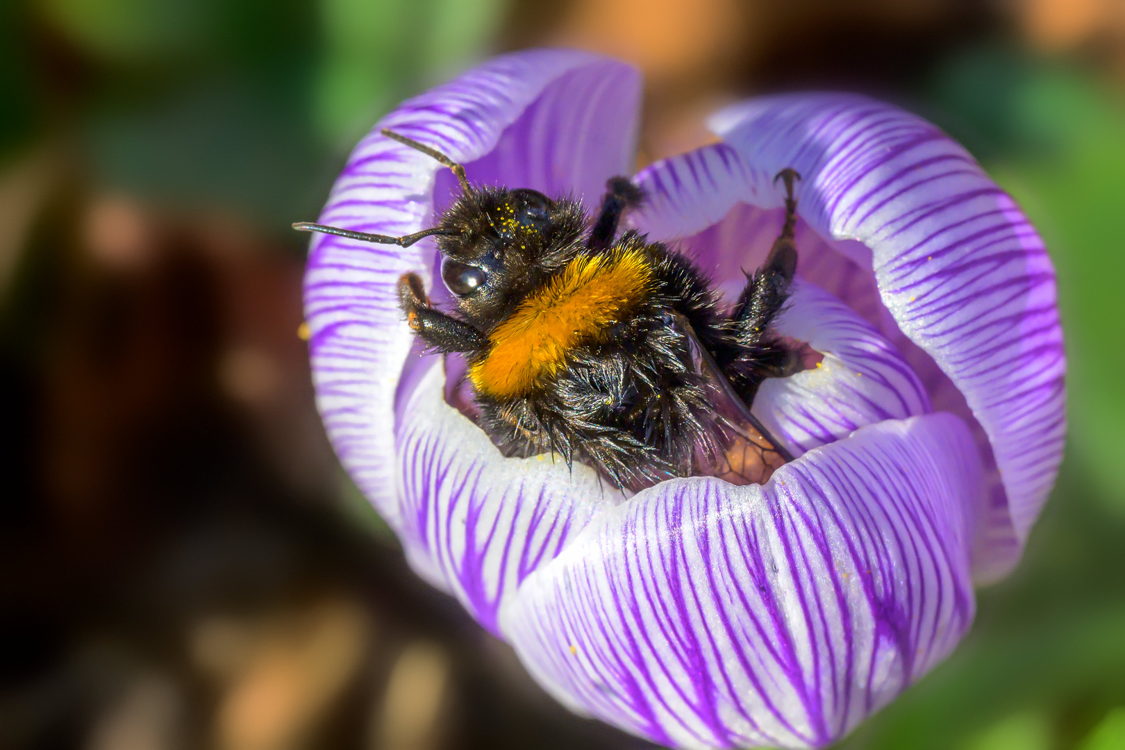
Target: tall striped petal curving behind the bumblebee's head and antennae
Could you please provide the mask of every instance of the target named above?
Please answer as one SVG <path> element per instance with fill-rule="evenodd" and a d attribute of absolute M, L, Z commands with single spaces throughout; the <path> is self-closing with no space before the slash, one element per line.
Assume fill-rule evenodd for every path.
<path fill-rule="evenodd" d="M 449 200 L 448 170 L 439 174 L 433 160 L 381 127 L 444 151 L 475 182 L 596 193 L 631 163 L 639 92 L 631 67 L 585 53 L 497 57 L 384 118 L 356 147 L 321 222 L 399 235 L 430 226 L 434 205 Z M 305 277 L 321 415 L 341 461 L 396 530 L 406 523 L 396 494 L 396 388 L 408 397 L 404 383 L 417 378 L 404 373 L 413 335 L 395 284 L 408 271 L 432 277 L 433 261 L 430 241 L 402 249 L 316 235 Z"/>

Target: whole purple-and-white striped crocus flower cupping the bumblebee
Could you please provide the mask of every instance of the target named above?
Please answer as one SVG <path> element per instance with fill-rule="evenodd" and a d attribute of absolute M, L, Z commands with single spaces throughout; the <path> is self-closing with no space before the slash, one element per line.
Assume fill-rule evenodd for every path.
<path fill-rule="evenodd" d="M 640 88 L 585 53 L 492 60 L 387 115 L 321 222 L 408 234 L 457 193 L 381 127 L 475 183 L 594 207 L 630 172 Z M 633 178 L 648 201 L 629 222 L 730 293 L 781 225 L 773 177 L 802 175 L 800 282 L 777 327 L 824 361 L 757 395 L 796 457 L 766 485 L 695 477 L 624 498 L 586 467 L 503 458 L 451 405 L 457 363 L 422 352 L 398 309 L 410 271 L 444 295 L 430 241 L 313 240 L 317 399 L 413 568 L 573 711 L 668 747 L 822 747 L 948 654 L 974 585 L 1020 557 L 1065 430 L 1054 271 L 1011 198 L 914 115 L 799 94 L 710 127 L 718 143 Z"/>

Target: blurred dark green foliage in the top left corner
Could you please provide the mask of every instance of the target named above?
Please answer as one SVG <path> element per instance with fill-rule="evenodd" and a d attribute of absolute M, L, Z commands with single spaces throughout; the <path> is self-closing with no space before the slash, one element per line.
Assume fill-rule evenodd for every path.
<path fill-rule="evenodd" d="M 38 126 L 39 137 L 78 139 L 98 188 L 249 218 L 290 238 L 289 223 L 316 216 L 371 123 L 482 56 L 503 8 L 503 0 L 4 3 L 0 154 Z M 53 80 L 42 80 L 44 70 Z"/>

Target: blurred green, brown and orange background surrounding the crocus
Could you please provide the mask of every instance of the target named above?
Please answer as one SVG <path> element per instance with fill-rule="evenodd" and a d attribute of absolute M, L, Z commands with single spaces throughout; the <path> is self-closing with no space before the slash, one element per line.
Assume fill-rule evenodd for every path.
<path fill-rule="evenodd" d="M 313 406 L 306 236 L 352 144 L 497 51 L 647 75 L 641 162 L 845 88 L 1045 236 L 1070 442 L 963 647 L 844 747 L 1125 748 L 1125 1 L 0 2 L 0 748 L 647 747 L 405 567 Z"/>

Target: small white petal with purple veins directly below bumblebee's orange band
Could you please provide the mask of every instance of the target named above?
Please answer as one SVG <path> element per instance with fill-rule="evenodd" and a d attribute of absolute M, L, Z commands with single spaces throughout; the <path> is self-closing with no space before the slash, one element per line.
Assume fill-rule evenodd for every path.
<path fill-rule="evenodd" d="M 395 421 L 398 537 L 415 570 L 500 635 L 497 613 L 520 584 L 622 497 L 583 464 L 505 459 L 446 403 L 441 361 L 420 370 Z"/>

